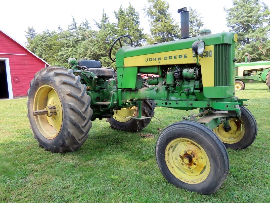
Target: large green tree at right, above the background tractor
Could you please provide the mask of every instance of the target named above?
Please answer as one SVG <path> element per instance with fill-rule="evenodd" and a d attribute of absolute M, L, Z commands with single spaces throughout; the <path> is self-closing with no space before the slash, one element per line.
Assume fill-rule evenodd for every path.
<path fill-rule="evenodd" d="M 244 54 L 256 61 L 270 58 L 270 11 L 260 0 L 233 0 L 227 12 L 227 26 L 238 34 L 236 57 L 244 61 Z"/>

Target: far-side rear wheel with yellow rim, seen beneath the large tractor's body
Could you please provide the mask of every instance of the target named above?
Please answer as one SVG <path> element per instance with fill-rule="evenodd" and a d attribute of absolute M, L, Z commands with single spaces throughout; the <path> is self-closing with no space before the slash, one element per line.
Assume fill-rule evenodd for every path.
<path fill-rule="evenodd" d="M 141 115 L 150 117 L 149 119 L 137 120 L 132 117 L 138 116 L 138 107 L 121 108 L 121 110 L 114 110 L 114 115 L 107 119 L 110 127 L 116 130 L 138 132 L 145 128 L 154 116 L 155 102 L 154 100 L 143 100 L 141 102 Z"/>

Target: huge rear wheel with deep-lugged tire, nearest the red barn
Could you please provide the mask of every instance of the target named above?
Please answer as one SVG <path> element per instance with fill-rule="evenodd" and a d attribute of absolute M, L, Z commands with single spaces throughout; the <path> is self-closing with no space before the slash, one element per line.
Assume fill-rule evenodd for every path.
<path fill-rule="evenodd" d="M 27 116 L 39 145 L 53 153 L 78 149 L 92 126 L 90 101 L 72 69 L 52 66 L 37 72 L 28 90 Z M 33 115 L 40 110 L 47 115 Z"/>

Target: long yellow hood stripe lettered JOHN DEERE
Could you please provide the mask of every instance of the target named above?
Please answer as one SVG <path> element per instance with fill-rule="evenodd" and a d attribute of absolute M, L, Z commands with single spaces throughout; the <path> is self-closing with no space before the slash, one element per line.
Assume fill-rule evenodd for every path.
<path fill-rule="evenodd" d="M 183 49 L 124 58 L 124 67 L 189 63 L 194 63 L 192 49 Z"/>

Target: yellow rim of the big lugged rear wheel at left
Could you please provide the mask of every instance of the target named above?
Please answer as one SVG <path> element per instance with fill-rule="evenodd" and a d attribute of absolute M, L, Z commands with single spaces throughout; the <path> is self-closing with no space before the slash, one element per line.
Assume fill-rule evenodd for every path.
<path fill-rule="evenodd" d="M 34 116 L 36 126 L 42 136 L 47 139 L 54 139 L 58 135 L 63 121 L 63 110 L 59 95 L 52 86 L 42 85 L 35 94 L 33 104 L 33 111 L 49 110 L 51 107 L 56 110 L 53 116 L 50 116 L 50 113 Z"/>

